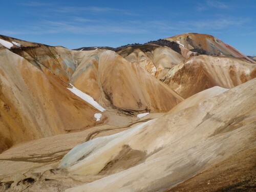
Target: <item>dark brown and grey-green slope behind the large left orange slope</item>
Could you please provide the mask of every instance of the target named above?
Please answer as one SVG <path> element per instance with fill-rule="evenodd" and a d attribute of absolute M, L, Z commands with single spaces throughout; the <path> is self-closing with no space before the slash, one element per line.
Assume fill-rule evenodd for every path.
<path fill-rule="evenodd" d="M 61 81 L 69 83 L 70 76 L 74 73 L 78 64 L 69 49 L 47 46 L 3 35 L 0 35 L 0 38 L 9 42 L 15 41 L 19 43 L 20 47 L 13 44 L 10 51 L 22 56 L 44 73 L 50 72 Z"/>

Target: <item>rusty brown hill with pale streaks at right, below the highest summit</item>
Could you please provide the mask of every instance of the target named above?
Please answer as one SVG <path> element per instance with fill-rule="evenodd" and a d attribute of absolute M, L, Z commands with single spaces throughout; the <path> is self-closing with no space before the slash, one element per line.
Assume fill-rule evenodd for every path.
<path fill-rule="evenodd" d="M 166 83 L 183 98 L 211 87 L 230 89 L 256 77 L 256 65 L 237 58 L 200 55 L 175 66 Z"/>

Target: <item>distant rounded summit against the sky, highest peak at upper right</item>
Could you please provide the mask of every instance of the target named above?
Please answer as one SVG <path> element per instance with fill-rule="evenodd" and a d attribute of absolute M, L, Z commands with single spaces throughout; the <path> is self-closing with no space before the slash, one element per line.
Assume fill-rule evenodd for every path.
<path fill-rule="evenodd" d="M 208 34 L 200 33 L 184 33 L 173 37 L 165 38 L 166 40 L 179 41 L 186 49 L 204 49 L 207 52 L 217 56 L 231 56 L 245 58 L 246 60 L 255 63 L 252 59 L 245 56 L 237 49 L 226 44 L 222 40 Z"/>

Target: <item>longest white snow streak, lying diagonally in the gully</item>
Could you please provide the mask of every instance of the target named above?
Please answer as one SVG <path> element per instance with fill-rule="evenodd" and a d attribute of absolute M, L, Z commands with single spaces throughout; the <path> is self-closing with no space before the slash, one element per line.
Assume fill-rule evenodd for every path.
<path fill-rule="evenodd" d="M 90 103 L 93 105 L 97 110 L 103 112 L 106 111 L 99 103 L 97 103 L 90 95 L 87 95 L 86 93 L 83 93 L 79 89 L 75 88 L 72 84 L 70 84 L 72 88 L 67 88 L 70 90 L 72 93 L 74 93 L 76 96 L 80 97 L 84 101 Z"/>

